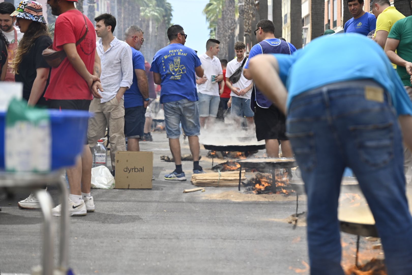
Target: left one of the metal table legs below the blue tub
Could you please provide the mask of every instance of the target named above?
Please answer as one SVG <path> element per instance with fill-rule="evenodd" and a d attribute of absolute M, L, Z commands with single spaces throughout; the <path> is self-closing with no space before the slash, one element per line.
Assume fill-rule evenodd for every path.
<path fill-rule="evenodd" d="M 45 190 L 37 191 L 36 197 L 39 200 L 44 217 L 42 274 L 53 275 L 54 230 L 52 226 L 52 197 Z"/>

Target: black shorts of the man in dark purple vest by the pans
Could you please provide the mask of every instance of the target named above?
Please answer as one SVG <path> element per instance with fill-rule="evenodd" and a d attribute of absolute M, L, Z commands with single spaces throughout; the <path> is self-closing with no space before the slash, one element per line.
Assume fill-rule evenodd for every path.
<path fill-rule="evenodd" d="M 264 139 L 289 140 L 286 136 L 286 117 L 273 104 L 269 108 L 255 105 L 256 137 Z"/>

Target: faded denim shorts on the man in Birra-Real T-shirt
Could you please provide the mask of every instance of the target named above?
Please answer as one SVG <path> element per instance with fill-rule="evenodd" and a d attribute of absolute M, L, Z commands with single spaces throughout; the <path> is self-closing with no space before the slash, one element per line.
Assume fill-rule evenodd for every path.
<path fill-rule="evenodd" d="M 196 101 L 181 99 L 163 103 L 164 122 L 168 139 L 178 139 L 180 123 L 186 136 L 200 135 L 199 109 Z"/>

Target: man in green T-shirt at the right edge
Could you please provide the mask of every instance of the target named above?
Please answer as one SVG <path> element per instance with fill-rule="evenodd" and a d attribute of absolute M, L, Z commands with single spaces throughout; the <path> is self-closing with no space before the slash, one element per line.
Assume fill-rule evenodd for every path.
<path fill-rule="evenodd" d="M 412 99 L 412 16 L 400 19 L 393 24 L 385 44 L 385 52 L 392 63 L 396 64 L 396 72 Z M 396 52 L 395 52 L 396 50 Z M 412 167 L 412 153 L 404 150 L 404 168 L 407 173 Z"/>

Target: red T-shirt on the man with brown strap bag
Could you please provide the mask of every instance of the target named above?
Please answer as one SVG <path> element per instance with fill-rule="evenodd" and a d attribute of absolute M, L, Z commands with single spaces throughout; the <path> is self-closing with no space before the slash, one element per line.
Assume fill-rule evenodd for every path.
<path fill-rule="evenodd" d="M 86 38 L 80 45 L 77 45 L 77 52 L 87 70 L 93 73 L 96 32 L 93 23 L 87 17 L 86 21 L 89 31 Z M 63 45 L 76 43 L 85 31 L 84 18 L 80 11 L 72 9 L 64 12 L 56 19 L 53 49 L 60 51 L 63 49 Z M 63 60 L 59 67 L 52 68 L 50 84 L 44 97 L 46 99 L 93 99 L 86 80 L 77 73 L 67 58 Z"/>

